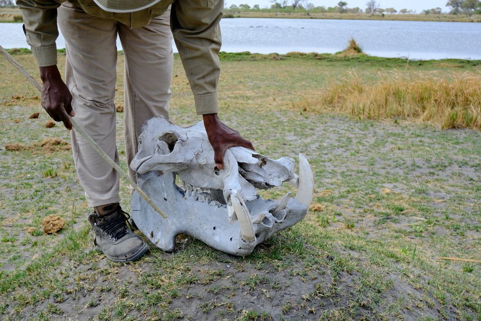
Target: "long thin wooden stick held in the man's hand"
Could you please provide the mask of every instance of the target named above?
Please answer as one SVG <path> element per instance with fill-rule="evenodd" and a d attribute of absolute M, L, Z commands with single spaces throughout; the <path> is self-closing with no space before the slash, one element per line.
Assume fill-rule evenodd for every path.
<path fill-rule="evenodd" d="M 6 52 L 5 49 L 3 49 L 3 47 L 0 45 L 0 53 L 5 56 L 5 58 L 13 65 L 15 66 L 26 78 L 27 80 L 29 80 L 30 82 L 33 83 L 34 86 L 37 87 L 37 89 L 41 92 L 42 91 L 42 86 L 38 83 L 37 80 L 35 80 L 32 75 L 29 74 L 28 71 L 25 70 L 25 68 L 23 68 L 22 65 L 20 65 L 20 63 L 18 61 L 15 60 L 15 58 L 13 58 L 8 52 Z M 90 146 L 92 146 L 92 148 L 97 152 L 99 153 L 100 156 L 102 156 L 102 158 L 107 161 L 112 167 L 113 169 L 115 169 L 119 174 L 120 176 L 122 176 L 123 178 L 125 178 L 129 184 L 137 191 L 139 192 L 140 195 L 142 195 L 142 197 L 148 202 L 148 204 L 150 206 L 152 206 L 152 208 L 154 210 L 156 210 L 163 218 L 167 218 L 167 216 L 165 216 L 164 212 L 162 212 L 162 210 L 148 197 L 148 195 L 139 187 L 139 185 L 137 185 L 133 180 L 132 178 L 130 178 L 130 176 L 122 169 L 120 168 L 119 165 L 117 165 L 117 163 L 115 163 L 114 161 L 112 161 L 112 159 L 109 157 L 109 155 L 107 155 L 101 148 L 99 145 L 97 145 L 97 143 L 85 132 L 85 130 L 82 129 L 82 127 L 80 127 L 77 122 L 70 116 L 69 116 L 69 119 L 70 121 L 72 122 L 72 126 L 74 127 L 74 129 L 83 137 L 85 138 L 85 140 L 90 144 Z"/>

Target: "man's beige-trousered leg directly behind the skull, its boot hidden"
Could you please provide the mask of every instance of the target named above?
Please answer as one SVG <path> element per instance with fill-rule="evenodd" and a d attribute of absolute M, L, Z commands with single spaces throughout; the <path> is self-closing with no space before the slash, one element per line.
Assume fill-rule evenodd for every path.
<path fill-rule="evenodd" d="M 124 50 L 125 154 L 130 162 L 137 153 L 142 125 L 153 116 L 169 118 L 173 51 L 170 9 L 145 27 L 120 25 L 118 34 Z"/>

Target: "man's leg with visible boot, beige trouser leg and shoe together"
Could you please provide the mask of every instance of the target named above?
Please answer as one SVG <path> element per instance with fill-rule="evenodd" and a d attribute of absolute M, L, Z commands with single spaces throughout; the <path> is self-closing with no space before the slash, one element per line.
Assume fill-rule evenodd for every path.
<path fill-rule="evenodd" d="M 75 120 L 118 163 L 115 145 L 117 22 L 87 15 L 66 2 L 58 9 L 66 40 L 66 83 L 74 96 Z M 72 130 L 75 168 L 89 206 L 94 243 L 113 261 L 135 261 L 148 245 L 127 228 L 118 205 L 119 174 Z"/>

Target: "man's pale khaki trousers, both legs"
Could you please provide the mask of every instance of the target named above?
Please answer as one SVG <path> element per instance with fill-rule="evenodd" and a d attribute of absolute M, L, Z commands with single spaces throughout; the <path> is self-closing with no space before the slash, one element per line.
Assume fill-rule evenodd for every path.
<path fill-rule="evenodd" d="M 125 154 L 137 153 L 137 137 L 149 118 L 168 118 L 173 52 L 170 9 L 147 26 L 130 29 L 92 17 L 65 2 L 58 24 L 66 40 L 66 84 L 74 96 L 75 120 L 118 163 L 115 145 L 117 34 L 124 51 Z M 119 174 L 72 130 L 72 150 L 89 206 L 120 201 Z M 129 174 L 135 179 L 134 172 Z"/>

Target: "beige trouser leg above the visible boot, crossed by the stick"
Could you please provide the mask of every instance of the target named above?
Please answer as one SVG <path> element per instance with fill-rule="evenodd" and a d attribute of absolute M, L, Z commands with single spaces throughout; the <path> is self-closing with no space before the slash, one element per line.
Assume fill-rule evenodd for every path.
<path fill-rule="evenodd" d="M 118 163 L 115 145 L 117 23 L 74 9 L 58 9 L 66 39 L 66 84 L 74 96 L 75 120 Z M 91 207 L 120 201 L 119 174 L 72 130 L 75 168 Z"/>

